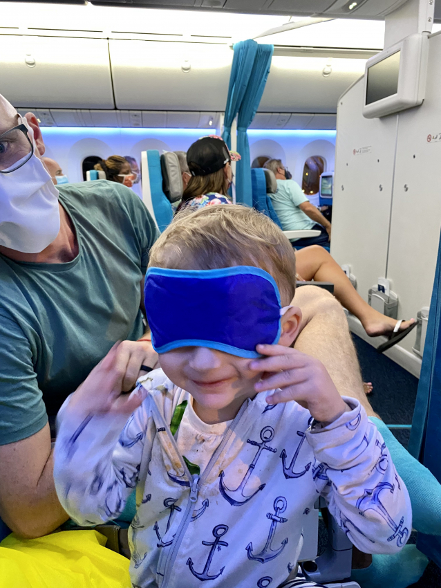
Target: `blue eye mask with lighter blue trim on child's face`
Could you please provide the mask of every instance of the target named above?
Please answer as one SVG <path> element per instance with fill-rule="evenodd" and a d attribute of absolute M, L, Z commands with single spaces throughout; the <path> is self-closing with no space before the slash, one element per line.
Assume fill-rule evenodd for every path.
<path fill-rule="evenodd" d="M 153 349 L 210 347 L 258 358 L 256 345 L 281 333 L 279 289 L 250 266 L 216 270 L 149 268 L 144 286 Z"/>

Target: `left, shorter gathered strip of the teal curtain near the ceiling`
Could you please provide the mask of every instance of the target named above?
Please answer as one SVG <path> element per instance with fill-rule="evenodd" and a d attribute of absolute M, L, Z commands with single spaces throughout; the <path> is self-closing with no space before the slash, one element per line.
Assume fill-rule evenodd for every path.
<path fill-rule="evenodd" d="M 229 75 L 227 105 L 223 122 L 223 140 L 231 149 L 231 129 L 233 120 L 241 107 L 245 91 L 256 57 L 257 43 L 248 39 L 234 44 L 232 71 Z"/>

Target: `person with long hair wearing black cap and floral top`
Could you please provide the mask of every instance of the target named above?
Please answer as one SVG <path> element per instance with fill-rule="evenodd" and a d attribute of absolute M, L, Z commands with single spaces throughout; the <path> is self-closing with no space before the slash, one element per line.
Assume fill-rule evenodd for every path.
<path fill-rule="evenodd" d="M 182 195 L 178 212 L 184 208 L 200 208 L 210 204 L 232 204 L 228 188 L 233 181 L 230 162 L 241 159 L 216 135 L 195 141 L 187 151 L 191 177 Z M 182 170 L 182 166 L 181 166 Z"/>

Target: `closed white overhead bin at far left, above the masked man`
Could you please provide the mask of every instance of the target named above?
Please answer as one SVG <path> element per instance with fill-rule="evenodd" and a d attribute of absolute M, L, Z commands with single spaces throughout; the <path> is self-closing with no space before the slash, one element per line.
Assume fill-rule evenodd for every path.
<path fill-rule="evenodd" d="M 16 107 L 113 109 L 106 39 L 0 35 L 1 93 Z"/>

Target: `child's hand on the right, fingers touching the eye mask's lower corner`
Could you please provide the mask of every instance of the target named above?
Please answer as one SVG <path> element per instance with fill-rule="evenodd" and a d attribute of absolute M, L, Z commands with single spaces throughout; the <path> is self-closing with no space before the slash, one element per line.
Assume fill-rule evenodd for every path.
<path fill-rule="evenodd" d="M 268 404 L 294 400 L 321 423 L 332 423 L 350 410 L 319 360 L 283 345 L 257 345 L 256 351 L 268 356 L 250 363 L 253 371 L 265 372 L 256 392 L 280 388 L 267 396 Z"/>

